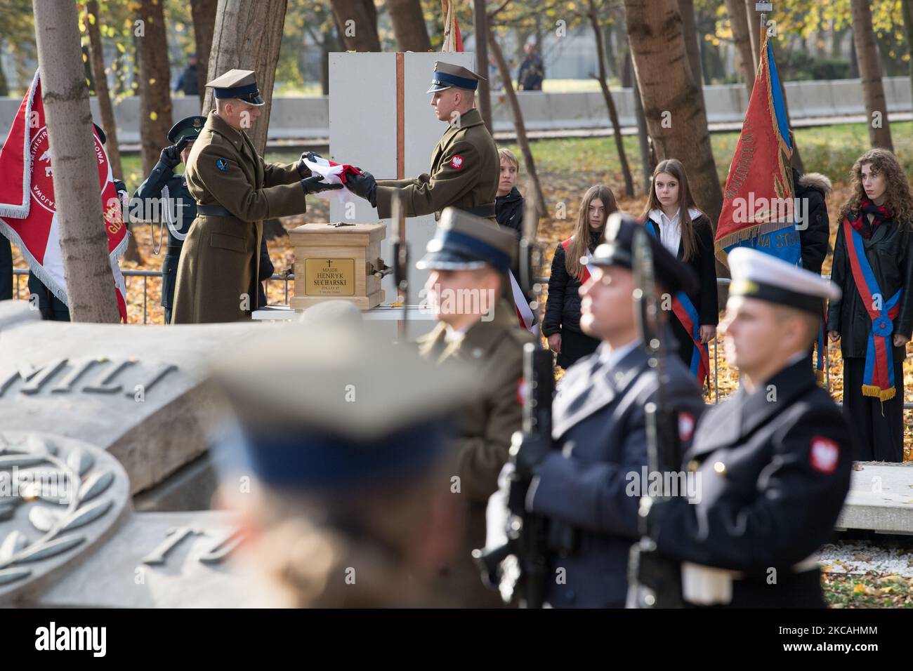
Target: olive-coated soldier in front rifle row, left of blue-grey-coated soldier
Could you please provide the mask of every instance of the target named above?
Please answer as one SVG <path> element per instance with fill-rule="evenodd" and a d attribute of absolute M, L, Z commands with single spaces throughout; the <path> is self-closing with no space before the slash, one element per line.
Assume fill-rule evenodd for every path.
<path fill-rule="evenodd" d="M 523 345 L 532 337 L 517 325 L 513 306 L 500 298 L 516 249 L 517 238 L 509 231 L 448 207 L 427 254 L 416 264 L 431 271 L 425 289 L 437 313 L 436 328 L 418 339 L 419 351 L 432 361 L 457 362 L 475 372 L 475 389 L 456 414 L 453 442 L 467 533 L 440 581 L 455 605 L 467 607 L 503 605 L 479 579 L 472 550 L 485 545 L 488 498 L 498 490 L 510 436 L 522 425 Z"/>

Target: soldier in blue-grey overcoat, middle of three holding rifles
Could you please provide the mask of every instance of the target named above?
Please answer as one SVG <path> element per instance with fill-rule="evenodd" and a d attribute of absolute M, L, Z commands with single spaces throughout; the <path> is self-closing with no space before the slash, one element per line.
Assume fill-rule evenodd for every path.
<path fill-rule="evenodd" d="M 551 556 L 546 602 L 556 608 L 624 607 L 629 551 L 639 538 L 636 484 L 647 466 L 645 405 L 656 402 L 659 380 L 638 338 L 632 302 L 637 227 L 631 218 L 612 215 L 605 243 L 588 261 L 581 326 L 602 342 L 561 379 L 552 405 L 555 449 L 535 467 L 526 498 L 530 512 L 572 529 L 561 534 L 564 545 Z M 657 288 L 671 295 L 693 288 L 694 272 L 655 237 L 648 242 Z M 668 357 L 666 376 L 664 402 L 677 414 L 687 446 L 704 402 L 677 357 Z"/>

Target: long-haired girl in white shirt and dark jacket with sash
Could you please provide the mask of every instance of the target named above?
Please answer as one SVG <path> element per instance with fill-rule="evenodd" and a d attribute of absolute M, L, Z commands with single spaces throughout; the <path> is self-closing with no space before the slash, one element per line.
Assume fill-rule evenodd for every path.
<path fill-rule="evenodd" d="M 656 166 L 642 219 L 647 230 L 691 266 L 700 280 L 697 291 L 670 296 L 669 307 L 676 317 L 671 324 L 678 356 L 703 386 L 710 372 L 708 342 L 716 336 L 719 323 L 713 225 L 695 204 L 681 161 L 666 159 Z"/>

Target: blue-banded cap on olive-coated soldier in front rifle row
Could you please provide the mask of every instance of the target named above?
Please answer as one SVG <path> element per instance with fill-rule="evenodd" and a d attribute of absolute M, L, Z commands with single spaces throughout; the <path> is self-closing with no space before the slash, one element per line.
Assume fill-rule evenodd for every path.
<path fill-rule="evenodd" d="M 419 270 L 471 270 L 494 267 L 507 274 L 517 253 L 517 236 L 456 207 L 441 213 Z"/>

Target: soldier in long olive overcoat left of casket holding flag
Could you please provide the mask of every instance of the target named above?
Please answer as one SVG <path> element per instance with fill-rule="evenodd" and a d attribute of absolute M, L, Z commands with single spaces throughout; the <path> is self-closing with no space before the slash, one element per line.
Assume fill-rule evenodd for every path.
<path fill-rule="evenodd" d="M 298 163 L 265 163 L 244 129 L 264 105 L 253 70 L 206 84 L 215 110 L 187 157 L 184 178 L 197 216 L 184 240 L 174 290 L 175 324 L 245 319 L 257 309 L 263 219 L 303 213 L 305 195 L 341 184 Z"/>

